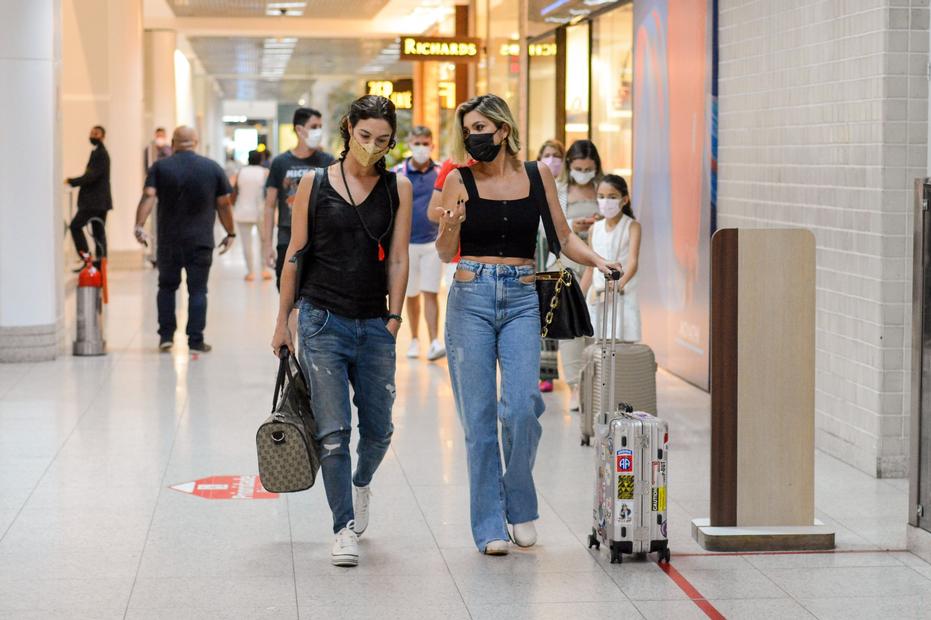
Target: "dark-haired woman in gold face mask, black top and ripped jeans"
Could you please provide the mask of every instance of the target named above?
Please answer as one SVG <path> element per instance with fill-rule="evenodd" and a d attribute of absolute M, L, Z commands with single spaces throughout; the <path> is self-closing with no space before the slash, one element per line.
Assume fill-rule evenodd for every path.
<path fill-rule="evenodd" d="M 336 566 L 359 562 L 358 537 L 369 523 L 369 485 L 394 428 L 395 346 L 407 290 L 412 199 L 410 181 L 385 169 L 396 132 L 394 104 L 385 97 L 361 97 L 340 123 L 339 160 L 301 179 L 272 339 L 276 355 L 282 347 L 293 352 L 288 316 L 297 297 L 300 360 L 313 394 Z M 297 282 L 291 258 L 308 241 Z M 354 474 L 350 386 L 359 410 Z"/>

